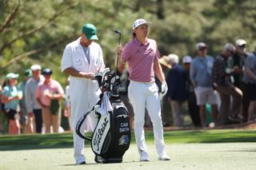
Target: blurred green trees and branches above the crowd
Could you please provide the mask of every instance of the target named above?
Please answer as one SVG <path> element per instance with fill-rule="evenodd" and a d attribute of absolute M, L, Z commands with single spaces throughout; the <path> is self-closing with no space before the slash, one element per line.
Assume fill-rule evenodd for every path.
<path fill-rule="evenodd" d="M 53 69 L 53 77 L 66 84 L 60 72 L 62 52 L 87 22 L 98 28 L 106 66 L 114 69 L 115 47 L 122 31 L 122 45 L 131 38 L 137 18 L 152 22 L 150 38 L 162 55 L 194 56 L 195 44 L 206 42 L 212 56 L 226 42 L 245 39 L 247 51 L 256 42 L 254 0 L 1 0 L 0 83 L 8 72 L 23 75 L 30 65 Z M 22 77 L 20 77 L 22 80 Z"/>

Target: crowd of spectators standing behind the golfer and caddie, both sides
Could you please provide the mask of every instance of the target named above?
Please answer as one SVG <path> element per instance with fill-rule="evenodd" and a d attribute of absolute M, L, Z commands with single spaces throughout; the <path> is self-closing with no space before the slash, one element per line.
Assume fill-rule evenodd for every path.
<path fill-rule="evenodd" d="M 256 52 L 247 53 L 243 39 L 238 39 L 235 45 L 227 43 L 217 57 L 208 55 L 207 49 L 204 42 L 198 42 L 195 57 L 179 58 L 170 53 L 160 58 L 168 85 L 168 92 L 162 100 L 166 98 L 171 108 L 167 116 L 172 117 L 174 126 L 183 127 L 182 108 L 186 104 L 194 127 L 206 127 L 208 105 L 215 126 L 254 122 Z M 182 65 L 178 64 L 180 59 Z M 0 131 L 5 124 L 3 120 L 7 120 L 9 134 L 59 132 L 62 99 L 66 99 L 63 113 L 69 120 L 67 126 L 71 128 L 69 80 L 64 93 L 58 81 L 51 77 L 52 70 L 46 68 L 41 72 L 41 69 L 40 65 L 31 65 L 19 84 L 18 74 L 6 75 L 6 80 L 0 85 Z"/>

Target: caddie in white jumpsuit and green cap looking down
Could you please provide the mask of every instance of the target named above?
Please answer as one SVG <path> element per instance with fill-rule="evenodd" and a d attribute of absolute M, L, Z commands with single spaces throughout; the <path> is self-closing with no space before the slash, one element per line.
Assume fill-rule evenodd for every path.
<path fill-rule="evenodd" d="M 96 27 L 86 24 L 82 27 L 81 36 L 66 45 L 62 56 L 62 72 L 70 75 L 71 125 L 74 140 L 74 159 L 76 164 L 86 164 L 84 156 L 84 140 L 75 132 L 75 125 L 84 113 L 96 105 L 101 91 L 98 82 L 92 80 L 94 73 L 105 67 L 102 48 L 94 40 L 98 40 Z M 96 126 L 96 117 L 90 114 L 91 130 Z M 85 132 L 85 124 L 81 127 Z"/>

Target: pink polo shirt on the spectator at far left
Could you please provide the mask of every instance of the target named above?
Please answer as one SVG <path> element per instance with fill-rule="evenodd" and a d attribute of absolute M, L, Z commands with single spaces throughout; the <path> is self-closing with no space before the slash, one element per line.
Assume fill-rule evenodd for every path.
<path fill-rule="evenodd" d="M 39 98 L 43 105 L 50 106 L 50 98 L 46 97 L 46 93 L 54 94 L 64 94 L 62 85 L 53 79 L 50 80 L 50 83 L 46 84 L 45 82 L 41 85 L 38 85 L 36 90 L 35 97 Z"/>

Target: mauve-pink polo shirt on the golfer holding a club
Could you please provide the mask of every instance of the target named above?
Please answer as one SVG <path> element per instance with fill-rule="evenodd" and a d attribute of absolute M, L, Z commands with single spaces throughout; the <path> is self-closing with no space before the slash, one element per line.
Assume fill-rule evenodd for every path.
<path fill-rule="evenodd" d="M 147 38 L 146 45 L 134 38 L 122 51 L 122 61 L 129 65 L 130 81 L 154 82 L 154 61 L 158 58 L 158 45 L 150 38 Z"/>

